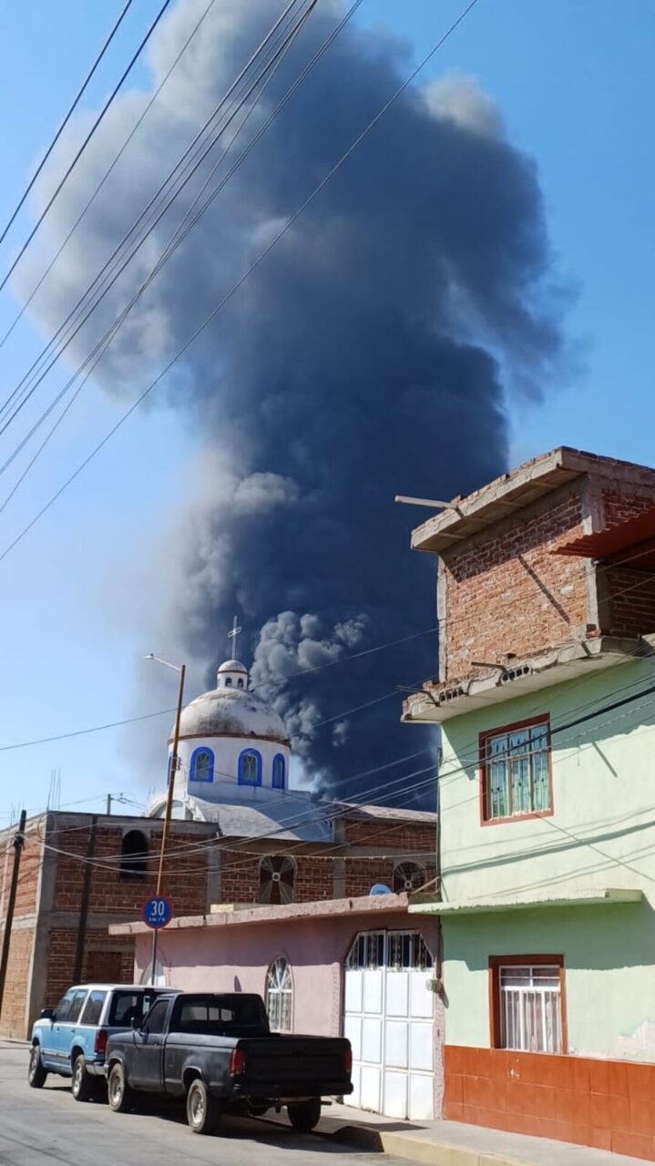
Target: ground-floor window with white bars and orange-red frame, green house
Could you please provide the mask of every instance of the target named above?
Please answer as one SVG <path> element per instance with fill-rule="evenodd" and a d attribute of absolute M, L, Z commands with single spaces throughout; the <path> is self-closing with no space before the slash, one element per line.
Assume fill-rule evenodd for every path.
<path fill-rule="evenodd" d="M 562 968 L 559 964 L 502 964 L 496 977 L 498 1048 L 562 1053 Z"/>

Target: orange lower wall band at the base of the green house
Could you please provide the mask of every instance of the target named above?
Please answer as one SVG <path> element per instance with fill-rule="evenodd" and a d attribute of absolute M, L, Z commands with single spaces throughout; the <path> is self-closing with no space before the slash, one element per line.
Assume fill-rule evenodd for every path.
<path fill-rule="evenodd" d="M 655 1065 L 446 1045 L 443 1115 L 655 1161 Z"/>

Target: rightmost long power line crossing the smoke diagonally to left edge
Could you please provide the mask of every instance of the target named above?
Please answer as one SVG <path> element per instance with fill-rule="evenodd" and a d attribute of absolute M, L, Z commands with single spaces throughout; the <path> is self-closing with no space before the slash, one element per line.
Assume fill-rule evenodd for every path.
<path fill-rule="evenodd" d="M 77 466 L 77 469 L 70 475 L 70 477 L 63 483 L 62 486 L 56 491 L 55 494 L 45 503 L 45 505 L 34 515 L 34 518 L 27 524 L 26 527 L 15 536 L 15 539 L 5 548 L 0 554 L 0 562 L 2 562 L 6 556 L 14 549 L 14 547 L 21 542 L 21 540 L 29 533 L 29 531 L 35 526 L 36 522 L 47 513 L 48 510 L 57 501 L 57 499 L 64 493 L 64 491 L 75 482 L 75 479 L 86 469 L 89 463 L 96 457 L 97 454 L 107 444 L 108 441 L 114 436 L 115 433 L 125 424 L 125 422 L 132 416 L 135 409 L 139 408 L 141 402 L 148 396 L 148 394 L 155 388 L 160 381 L 165 377 L 168 372 L 174 367 L 174 365 L 179 360 L 188 349 L 193 344 L 197 337 L 204 331 L 204 329 L 210 324 L 216 316 L 223 310 L 226 303 L 233 297 L 233 295 L 240 289 L 240 287 L 246 282 L 249 275 L 263 262 L 268 257 L 270 251 L 275 245 L 282 239 L 287 231 L 294 225 L 294 223 L 300 218 L 300 216 L 307 210 L 307 208 L 314 202 L 314 199 L 321 194 L 324 187 L 330 182 L 330 180 L 337 174 L 341 166 L 347 161 L 352 153 L 358 148 L 358 146 L 364 141 L 368 133 L 376 126 L 383 114 L 390 108 L 390 106 L 397 100 L 397 98 L 406 91 L 406 89 L 411 84 L 415 77 L 418 75 L 421 69 L 423 69 L 437 50 L 445 43 L 445 41 L 455 33 L 456 28 L 462 23 L 465 16 L 474 8 L 478 0 L 471 0 L 471 2 L 463 9 L 459 16 L 452 22 L 449 29 L 443 34 L 443 36 L 436 42 L 436 44 L 430 49 L 430 51 L 423 57 L 418 65 L 413 70 L 413 72 L 407 77 L 407 79 L 395 90 L 392 97 L 382 105 L 381 110 L 375 114 L 375 117 L 368 122 L 368 125 L 361 131 L 361 133 L 354 139 L 347 150 L 341 154 L 340 159 L 334 163 L 334 166 L 328 171 L 323 180 L 315 187 L 312 192 L 305 198 L 305 201 L 297 208 L 297 210 L 286 220 L 280 231 L 274 236 L 270 243 L 263 248 L 258 258 L 246 268 L 242 275 L 237 280 L 232 288 L 223 296 L 219 303 L 209 312 L 198 328 L 192 332 L 189 339 L 177 350 L 174 357 L 164 365 L 161 372 L 155 377 L 153 381 L 143 389 L 143 392 L 136 398 L 133 405 L 122 414 L 118 422 L 105 434 L 105 437 L 94 447 L 91 454 Z"/>

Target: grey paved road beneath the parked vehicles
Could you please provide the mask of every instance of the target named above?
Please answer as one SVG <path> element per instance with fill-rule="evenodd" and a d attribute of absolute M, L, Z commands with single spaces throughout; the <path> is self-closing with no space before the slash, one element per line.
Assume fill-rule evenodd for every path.
<path fill-rule="evenodd" d="M 63 1077 L 43 1089 L 26 1080 L 27 1048 L 0 1041 L 1 1166 L 400 1166 L 316 1135 L 297 1135 L 267 1122 L 231 1118 L 219 1138 L 191 1133 L 183 1114 L 150 1105 L 112 1114 L 106 1104 L 75 1102 Z"/>

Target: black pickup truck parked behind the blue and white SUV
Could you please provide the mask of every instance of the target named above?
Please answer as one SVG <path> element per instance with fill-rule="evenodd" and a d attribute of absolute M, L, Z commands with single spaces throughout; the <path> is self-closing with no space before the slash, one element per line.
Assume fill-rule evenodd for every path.
<path fill-rule="evenodd" d="M 170 992 L 140 1028 L 110 1038 L 105 1072 L 118 1114 L 140 1093 L 185 1097 L 193 1132 L 213 1133 L 226 1110 L 261 1117 L 286 1105 L 291 1125 L 307 1132 L 322 1096 L 352 1093 L 351 1065 L 341 1038 L 272 1033 L 260 996 Z"/>

